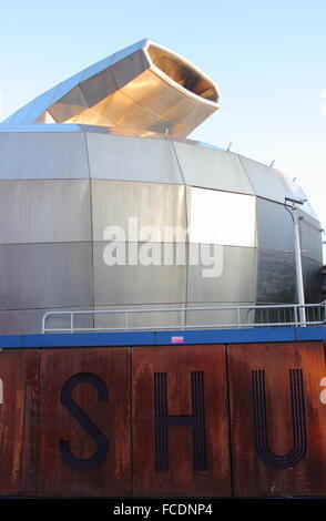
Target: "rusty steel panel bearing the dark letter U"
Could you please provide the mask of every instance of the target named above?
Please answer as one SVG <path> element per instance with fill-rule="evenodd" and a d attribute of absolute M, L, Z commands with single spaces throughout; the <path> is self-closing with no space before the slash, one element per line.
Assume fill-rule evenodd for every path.
<path fill-rule="evenodd" d="M 325 494 L 324 345 L 233 345 L 228 368 L 235 494 Z"/>

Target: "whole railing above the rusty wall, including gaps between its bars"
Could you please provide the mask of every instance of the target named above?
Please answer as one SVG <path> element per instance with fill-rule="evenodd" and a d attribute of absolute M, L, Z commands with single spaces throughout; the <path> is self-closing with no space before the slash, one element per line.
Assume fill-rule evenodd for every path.
<path fill-rule="evenodd" d="M 300 309 L 305 309 L 305 321 Z M 326 325 L 326 300 L 318 304 L 162 307 L 47 311 L 42 333 L 232 329 Z"/>

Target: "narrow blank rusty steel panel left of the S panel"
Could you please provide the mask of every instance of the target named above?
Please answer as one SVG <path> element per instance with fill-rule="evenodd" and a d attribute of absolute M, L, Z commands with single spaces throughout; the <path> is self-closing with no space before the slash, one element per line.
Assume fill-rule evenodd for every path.
<path fill-rule="evenodd" d="M 0 353 L 0 494 L 35 493 L 39 351 Z"/>

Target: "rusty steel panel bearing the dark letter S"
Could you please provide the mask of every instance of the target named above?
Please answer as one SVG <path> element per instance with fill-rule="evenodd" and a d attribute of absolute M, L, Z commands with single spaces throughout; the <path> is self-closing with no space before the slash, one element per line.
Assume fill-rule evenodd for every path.
<path fill-rule="evenodd" d="M 131 494 L 129 348 L 42 353 L 40 496 Z"/>

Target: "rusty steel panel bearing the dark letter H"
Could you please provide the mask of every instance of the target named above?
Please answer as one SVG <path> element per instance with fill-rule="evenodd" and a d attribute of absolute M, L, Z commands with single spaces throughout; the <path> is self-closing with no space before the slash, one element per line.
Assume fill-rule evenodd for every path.
<path fill-rule="evenodd" d="M 134 496 L 230 496 L 224 346 L 133 349 Z"/>

